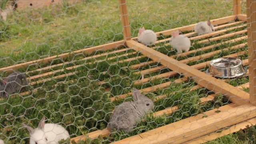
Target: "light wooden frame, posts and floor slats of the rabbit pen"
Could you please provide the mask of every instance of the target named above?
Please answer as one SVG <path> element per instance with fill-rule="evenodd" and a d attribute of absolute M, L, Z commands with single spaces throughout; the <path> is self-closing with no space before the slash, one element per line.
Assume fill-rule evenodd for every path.
<path fill-rule="evenodd" d="M 138 82 L 135 82 L 135 84 L 148 82 L 154 78 L 169 78 L 171 76 L 175 76 L 177 74 L 183 75 L 184 78 L 179 78 L 175 80 L 175 83 L 181 83 L 186 81 L 189 78 L 192 78 L 198 85 L 194 87 L 194 89 L 198 88 L 206 88 L 208 90 L 211 90 L 215 94 L 208 95 L 206 98 L 201 98 L 201 102 L 207 102 L 210 101 L 216 96 L 217 94 L 223 94 L 227 98 L 230 99 L 232 102 L 231 104 L 227 104 L 225 106 L 222 106 L 219 108 L 220 112 L 216 113 L 216 109 L 209 110 L 205 112 L 208 117 L 204 117 L 204 114 L 198 114 L 196 116 L 192 116 L 183 120 L 180 120 L 178 122 L 174 122 L 165 126 L 161 126 L 159 128 L 156 128 L 154 130 L 150 130 L 148 132 L 144 132 L 129 138 L 125 138 L 123 140 L 114 142 L 115 144 L 165 144 L 165 143 L 172 143 L 172 144 L 194 144 L 194 143 L 201 143 L 201 142 L 207 142 L 210 140 L 214 140 L 215 138 L 237 132 L 241 128 L 245 128 L 248 124 L 256 124 L 256 34 L 254 31 L 256 31 L 256 2 L 254 0 L 247 0 L 247 14 L 241 14 L 241 7 L 240 7 L 240 0 L 233 0 L 233 14 L 232 16 L 226 16 L 224 18 L 218 18 L 215 20 L 211 20 L 212 24 L 218 25 L 215 27 L 216 31 L 212 32 L 210 34 L 203 34 L 199 36 L 194 36 L 195 32 L 190 32 L 185 34 L 186 36 L 191 36 L 190 40 L 198 39 L 198 38 L 208 38 L 210 36 L 216 36 L 218 34 L 222 34 L 228 30 L 233 30 L 236 28 L 242 28 L 247 25 L 247 30 L 241 30 L 238 32 L 230 33 L 230 34 L 224 34 L 221 36 L 216 36 L 214 38 L 209 38 L 207 40 L 199 41 L 199 43 L 205 43 L 208 41 L 216 41 L 220 40 L 222 38 L 228 38 L 232 37 L 238 34 L 244 34 L 247 32 L 248 36 L 242 36 L 240 38 L 235 38 L 232 40 L 225 41 L 224 43 L 229 42 L 237 42 L 239 40 L 248 39 L 248 53 L 249 58 L 246 60 L 243 60 L 244 65 L 249 65 L 249 72 L 247 73 L 247 76 L 249 75 L 250 82 L 247 84 L 243 84 L 242 86 L 234 87 L 230 84 L 227 84 L 225 80 L 220 80 L 217 78 L 214 78 L 212 76 L 209 76 L 205 72 L 200 71 L 199 69 L 204 68 L 209 64 L 210 61 L 203 62 L 200 64 L 196 64 L 193 66 L 187 65 L 188 62 L 200 60 L 200 58 L 209 58 L 213 56 L 214 54 L 221 52 L 220 50 L 201 54 L 200 56 L 194 56 L 192 58 L 187 58 L 184 60 L 176 60 L 174 59 L 174 56 L 167 56 L 165 54 L 162 54 L 158 51 L 156 51 L 156 47 L 149 48 L 147 46 L 144 46 L 143 44 L 140 44 L 136 41 L 136 37 L 131 37 L 131 31 L 130 31 L 130 24 L 128 20 L 128 10 L 126 7 L 126 0 L 118 0 L 119 1 L 119 8 L 120 8 L 120 16 L 122 20 L 122 27 L 123 27 L 123 36 L 124 40 L 120 40 L 117 42 L 112 42 L 100 46 L 94 46 L 91 48 L 85 48 L 82 50 L 77 50 L 72 53 L 64 53 L 60 54 L 58 56 L 50 56 L 48 58 L 44 59 L 38 59 L 33 60 L 30 62 L 25 62 L 21 64 L 16 64 L 13 66 L 8 66 L 5 68 L 0 68 L 0 71 L 9 72 L 12 70 L 16 70 L 18 68 L 27 67 L 29 65 L 33 64 L 40 64 L 40 63 L 49 63 L 55 58 L 66 58 L 73 54 L 92 54 L 96 51 L 106 51 L 106 50 L 112 50 L 116 48 L 120 48 L 122 46 L 126 46 L 127 48 L 115 50 L 112 53 L 118 53 L 124 50 L 132 49 L 135 52 L 132 54 L 137 54 L 138 52 L 143 54 L 142 56 L 136 56 L 133 59 L 141 58 L 141 57 L 147 57 L 152 59 L 152 61 L 148 61 L 145 63 L 133 65 L 132 69 L 140 68 L 142 66 L 145 66 L 147 64 L 153 63 L 153 62 L 159 62 L 161 66 L 158 66 L 156 68 L 149 68 L 146 70 L 140 71 L 140 74 L 147 74 L 151 72 L 156 72 L 160 70 L 161 68 L 169 68 L 172 70 L 171 72 L 166 72 L 164 74 L 159 74 L 157 76 L 153 76 L 150 78 L 144 78 Z M 236 20 L 236 21 L 235 21 Z M 227 26 L 232 26 L 235 24 L 241 24 L 242 22 L 246 22 L 247 24 L 243 24 L 241 26 L 233 26 L 231 28 L 219 30 L 222 28 L 226 28 Z M 156 34 L 159 36 L 160 34 L 163 35 L 171 35 L 172 32 L 179 30 L 180 32 L 185 31 L 192 31 L 194 29 L 195 24 L 191 24 L 188 26 L 182 26 L 179 28 L 174 28 L 170 30 L 165 30 L 162 32 L 156 32 Z M 166 42 L 168 39 L 159 40 L 157 43 L 160 42 Z M 186 56 L 189 54 L 192 54 L 193 52 L 197 52 L 199 50 L 208 50 L 210 48 L 213 48 L 215 46 L 219 46 L 219 44 L 214 44 L 210 46 L 206 46 L 197 50 L 190 50 L 188 52 L 184 52 L 182 54 L 178 54 L 175 56 Z M 236 46 L 230 47 L 231 49 L 239 49 L 244 48 L 246 46 L 246 43 L 242 43 Z M 235 54 L 228 55 L 229 57 L 237 57 L 239 54 L 244 54 L 245 52 L 239 52 Z M 90 57 L 86 57 L 84 59 L 89 58 L 96 58 L 99 56 L 107 55 L 109 53 L 103 53 L 98 54 Z M 128 54 L 127 54 L 128 55 Z M 126 61 L 132 60 L 132 58 L 127 59 Z M 68 62 L 66 62 L 68 63 Z M 47 70 L 54 68 L 56 66 L 62 66 L 66 63 L 51 65 L 48 67 L 37 69 L 36 71 L 41 70 Z M 71 66 L 66 69 L 75 69 L 80 67 L 80 65 Z M 32 76 L 29 79 L 36 79 L 38 77 L 42 76 L 49 76 L 53 75 L 57 72 L 63 71 L 55 70 L 52 72 L 46 72 L 44 74 L 39 74 L 36 76 Z M 32 71 L 31 71 L 32 72 Z M 30 73 L 30 72 L 27 72 Z M 63 78 L 65 76 L 76 74 L 76 72 L 70 72 L 67 74 L 55 76 L 54 78 Z M 48 81 L 49 79 L 39 80 L 36 82 L 30 83 L 38 84 Z M 103 84 L 104 82 L 99 82 L 100 84 Z M 169 86 L 172 82 L 166 82 L 163 84 L 159 84 L 156 86 L 151 86 L 148 88 L 144 88 L 141 91 L 142 92 L 150 92 L 152 90 L 156 90 L 157 88 L 165 88 L 166 86 Z M 241 90 L 242 87 L 250 87 L 250 94 L 247 92 L 244 92 Z M 22 93 L 20 95 L 27 94 Z M 118 98 L 126 98 L 128 94 L 122 94 L 120 96 L 115 96 L 111 98 L 111 101 L 115 101 Z M 164 96 L 163 96 L 164 97 Z M 171 108 L 167 108 L 165 110 L 161 110 L 159 112 L 155 112 L 154 116 L 162 116 L 163 114 L 172 114 L 174 111 L 178 109 L 178 106 L 173 106 Z M 224 129 L 225 128 L 225 129 Z M 222 130 L 222 132 L 216 133 L 216 131 Z M 94 132 L 90 132 L 87 135 L 78 136 L 76 138 L 72 138 L 71 140 L 74 140 L 78 142 L 79 140 L 85 140 L 86 138 L 98 138 L 98 136 L 106 137 L 110 134 L 110 132 L 107 129 L 103 130 L 97 130 Z"/>

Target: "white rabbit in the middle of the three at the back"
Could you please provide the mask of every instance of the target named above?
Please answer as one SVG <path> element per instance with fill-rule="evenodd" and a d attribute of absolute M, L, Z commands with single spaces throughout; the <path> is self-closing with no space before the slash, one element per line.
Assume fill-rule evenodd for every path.
<path fill-rule="evenodd" d="M 188 52 L 191 46 L 190 39 L 183 34 L 179 34 L 179 31 L 172 33 L 170 45 L 177 50 L 177 54 L 182 53 L 182 51 Z"/>

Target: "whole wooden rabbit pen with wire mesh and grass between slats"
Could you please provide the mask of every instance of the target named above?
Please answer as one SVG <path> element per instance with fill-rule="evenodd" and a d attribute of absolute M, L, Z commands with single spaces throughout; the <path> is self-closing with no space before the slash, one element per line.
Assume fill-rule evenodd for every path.
<path fill-rule="evenodd" d="M 242 2 L 246 14 L 241 12 Z M 0 139 L 5 143 L 29 142 L 30 134 L 22 123 L 36 128 L 43 116 L 46 123 L 66 128 L 70 144 L 198 144 L 256 125 L 255 0 L 232 0 L 232 14 L 210 19 L 214 30 L 206 34 L 194 32 L 200 21 L 181 27 L 176 27 L 181 25 L 176 22 L 171 29 L 155 31 L 157 40 L 152 46 L 134 37 L 142 24 L 136 25 L 137 19 L 131 14 L 134 11 L 127 6 L 129 1 L 116 3 L 120 19 L 111 25 L 120 23 L 122 33 L 118 36 L 122 40 L 68 52 L 53 47 L 59 54 L 43 58 L 38 54 L 40 58 L 25 62 L 10 62 L 11 58 L 1 56 L 2 80 L 21 71 L 28 84 L 1 97 Z M 101 18 L 90 18 L 94 17 Z M 144 24 L 145 28 L 149 25 Z M 170 46 L 176 31 L 190 39 L 190 50 L 176 54 Z M 210 64 L 218 58 L 239 59 L 245 73 L 235 78 L 211 75 Z M 107 124 L 112 112 L 133 100 L 132 88 L 150 98 L 154 108 L 132 132 L 110 131 Z"/>

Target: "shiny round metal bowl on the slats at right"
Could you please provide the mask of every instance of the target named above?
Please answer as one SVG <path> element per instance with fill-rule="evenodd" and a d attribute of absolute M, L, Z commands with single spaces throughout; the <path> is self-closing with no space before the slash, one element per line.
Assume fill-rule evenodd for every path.
<path fill-rule="evenodd" d="M 242 61 L 237 58 L 217 58 L 210 62 L 206 73 L 217 78 L 236 78 L 246 74 Z"/>

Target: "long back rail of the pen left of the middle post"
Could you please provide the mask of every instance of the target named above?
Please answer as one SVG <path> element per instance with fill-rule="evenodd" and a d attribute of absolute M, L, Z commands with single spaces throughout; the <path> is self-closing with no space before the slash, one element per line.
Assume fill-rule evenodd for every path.
<path fill-rule="evenodd" d="M 125 44 L 124 40 L 120 40 L 120 41 L 117 41 L 117 42 L 111 42 L 109 44 L 103 44 L 103 45 L 94 46 L 94 47 L 91 47 L 91 48 L 84 48 L 82 50 L 76 50 L 74 52 L 67 52 L 67 53 L 60 54 L 60 55 L 50 56 L 50 57 L 47 57 L 47 58 L 32 60 L 32 61 L 21 63 L 21 64 L 15 64 L 13 66 L 0 68 L 0 72 L 4 72 L 4 71 L 5 72 L 12 72 L 13 70 L 17 70 L 18 68 L 23 68 L 23 67 L 35 64 L 35 63 L 45 64 L 45 63 L 48 63 L 48 62 L 50 62 L 54 59 L 66 58 L 66 57 L 71 56 L 73 54 L 80 54 L 80 53 L 91 54 L 91 53 L 93 53 L 97 50 L 106 51 L 106 50 L 111 50 L 111 49 L 114 49 L 114 48 L 120 48 L 122 46 L 125 46 L 124 44 Z"/>

